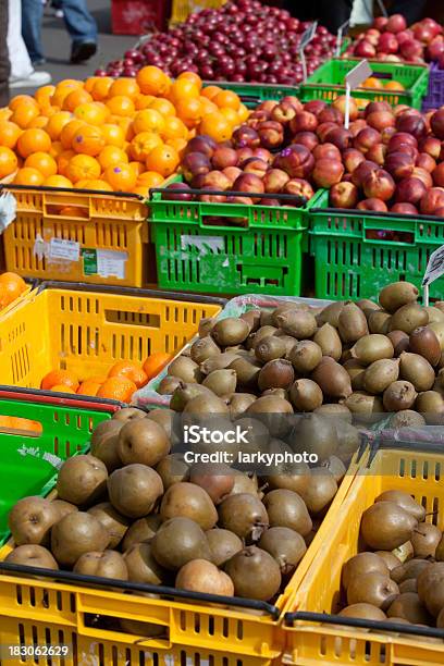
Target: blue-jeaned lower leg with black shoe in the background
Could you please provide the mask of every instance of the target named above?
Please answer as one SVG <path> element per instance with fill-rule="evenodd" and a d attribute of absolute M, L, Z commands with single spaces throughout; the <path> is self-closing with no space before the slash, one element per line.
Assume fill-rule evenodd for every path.
<path fill-rule="evenodd" d="M 62 0 L 63 18 L 73 41 L 71 61 L 88 60 L 97 50 L 97 24 L 86 0 Z"/>

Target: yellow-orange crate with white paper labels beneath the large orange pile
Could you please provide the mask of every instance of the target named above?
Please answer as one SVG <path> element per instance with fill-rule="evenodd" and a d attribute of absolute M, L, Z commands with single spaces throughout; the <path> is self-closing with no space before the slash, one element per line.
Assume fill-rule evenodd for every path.
<path fill-rule="evenodd" d="M 17 200 L 16 220 L 3 234 L 8 271 L 90 284 L 140 287 L 156 282 L 148 208 L 138 195 L 8 189 Z"/>

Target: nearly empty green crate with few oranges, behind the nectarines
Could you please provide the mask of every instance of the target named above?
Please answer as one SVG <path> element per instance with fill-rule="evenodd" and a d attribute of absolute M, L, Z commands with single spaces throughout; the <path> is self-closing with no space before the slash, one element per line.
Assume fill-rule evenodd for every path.
<path fill-rule="evenodd" d="M 345 76 L 353 70 L 359 59 L 342 60 L 333 58 L 324 62 L 305 84 L 300 85 L 299 98 L 303 102 L 312 99 L 333 101 L 340 95 L 345 94 Z M 420 109 L 422 98 L 425 97 L 429 87 L 429 67 L 427 65 L 408 65 L 396 62 L 370 61 L 370 66 L 375 76 L 398 81 L 406 88 L 396 90 L 373 90 L 368 88 L 356 88 L 353 97 L 357 99 L 369 99 L 371 101 L 387 101 L 390 104 L 408 104 Z"/>

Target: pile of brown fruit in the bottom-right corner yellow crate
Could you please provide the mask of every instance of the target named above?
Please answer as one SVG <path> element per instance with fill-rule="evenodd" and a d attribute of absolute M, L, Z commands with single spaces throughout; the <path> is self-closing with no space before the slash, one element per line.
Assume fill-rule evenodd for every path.
<path fill-rule="evenodd" d="M 427 518 L 404 491 L 375 498 L 360 522 L 367 551 L 342 569 L 340 616 L 444 629 L 444 535 Z"/>

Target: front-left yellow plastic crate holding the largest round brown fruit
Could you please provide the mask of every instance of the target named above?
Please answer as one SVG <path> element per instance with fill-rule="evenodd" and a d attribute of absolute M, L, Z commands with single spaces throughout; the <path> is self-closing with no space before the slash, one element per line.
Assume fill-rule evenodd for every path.
<path fill-rule="evenodd" d="M 72 656 L 51 662 L 60 666 L 278 666 L 282 664 L 285 641 L 280 621 L 282 612 L 300 585 L 325 535 L 336 523 L 356 470 L 354 460 L 317 535 L 275 606 L 251 603 L 256 608 L 266 609 L 262 615 L 233 604 L 208 604 L 202 601 L 205 595 L 197 593 L 168 593 L 170 589 L 164 588 L 159 599 L 123 593 L 127 588 L 144 589 L 134 583 L 116 583 L 122 592 L 110 591 L 110 582 L 104 580 L 106 589 L 86 588 L 85 583 L 77 582 L 82 577 L 74 580 L 70 572 L 59 572 L 57 582 L 51 572 L 46 578 L 33 579 L 22 570 L 17 578 L 1 566 L 1 560 L 13 547 L 13 542 L 9 541 L 0 550 L 0 644 L 67 643 L 73 646 Z M 242 601 L 245 604 L 245 600 Z M 97 616 L 110 622 L 119 618 L 152 622 L 165 628 L 166 638 L 147 639 L 124 633 L 115 627 L 99 628 L 95 621 Z M 2 664 L 13 662 L 2 661 Z"/>

